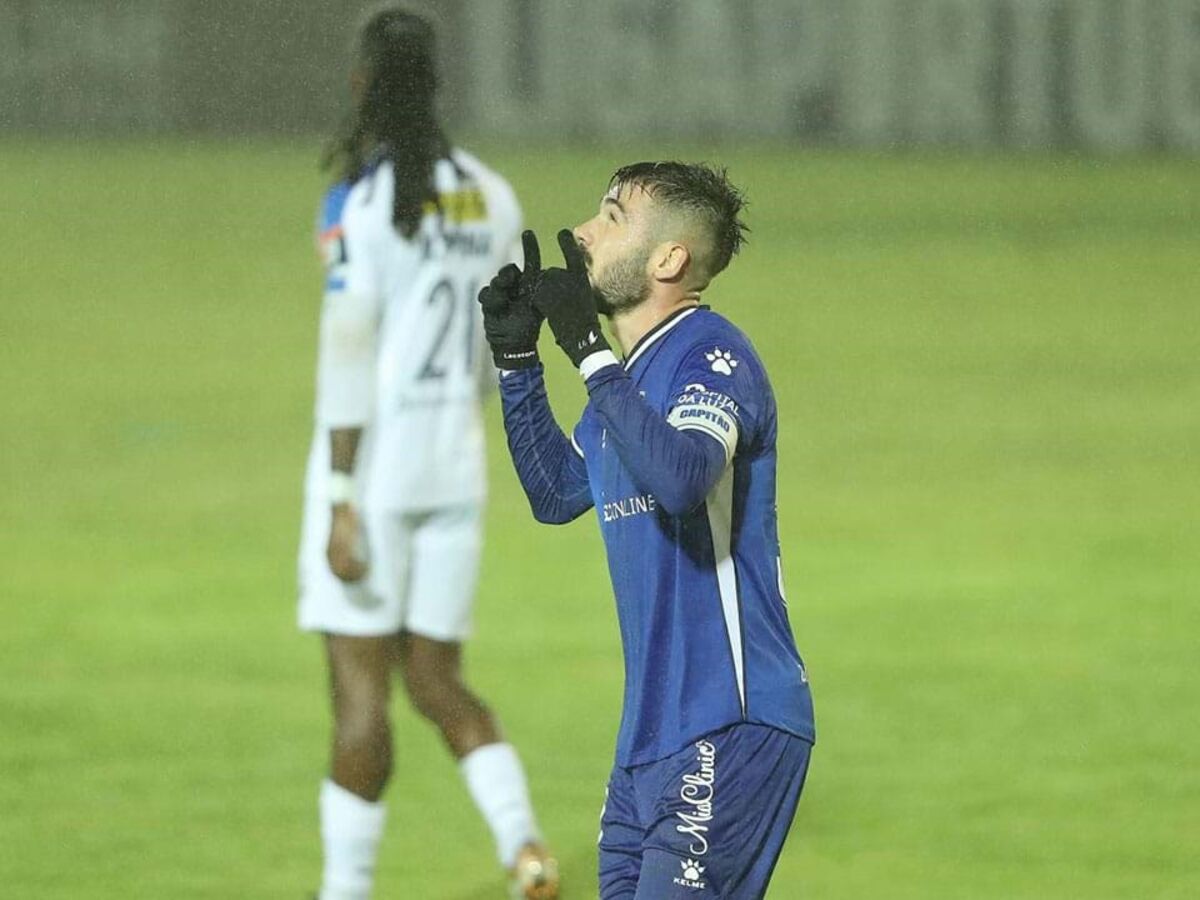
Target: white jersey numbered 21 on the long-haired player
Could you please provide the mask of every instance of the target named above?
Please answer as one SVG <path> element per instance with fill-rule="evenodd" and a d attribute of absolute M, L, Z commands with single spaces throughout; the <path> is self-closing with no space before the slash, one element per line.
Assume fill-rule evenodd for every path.
<path fill-rule="evenodd" d="M 391 221 L 390 161 L 325 196 L 310 491 L 328 480 L 329 431 L 362 427 L 360 503 L 433 509 L 484 498 L 481 394 L 494 388 L 496 370 L 476 295 L 518 259 L 521 209 L 508 182 L 462 150 L 439 160 L 433 178 L 438 203 L 426 203 L 412 239 Z M 343 328 L 347 310 L 358 311 L 350 322 L 371 326 Z M 353 365 L 331 361 L 341 350 L 330 346 L 349 347 Z"/>

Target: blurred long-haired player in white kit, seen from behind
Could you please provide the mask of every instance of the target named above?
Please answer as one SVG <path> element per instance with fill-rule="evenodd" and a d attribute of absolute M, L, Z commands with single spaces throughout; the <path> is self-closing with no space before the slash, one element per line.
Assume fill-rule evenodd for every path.
<path fill-rule="evenodd" d="M 514 896 L 553 900 L 557 866 L 521 763 L 461 676 L 485 496 L 480 404 L 496 378 L 475 295 L 520 258 L 521 210 L 499 175 L 446 142 L 436 86 L 430 24 L 374 13 L 358 37 L 353 112 L 325 158 L 337 181 L 318 223 L 299 610 L 301 629 L 324 636 L 332 694 L 319 898 L 371 895 L 398 671 L 460 761 Z"/>

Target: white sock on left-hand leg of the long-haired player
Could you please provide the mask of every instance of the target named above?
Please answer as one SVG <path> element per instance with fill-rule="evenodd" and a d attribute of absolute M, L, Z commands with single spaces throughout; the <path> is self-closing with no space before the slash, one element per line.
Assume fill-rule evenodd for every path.
<path fill-rule="evenodd" d="M 364 800 L 329 779 L 320 782 L 320 900 L 368 900 L 386 812 L 382 803 Z"/>

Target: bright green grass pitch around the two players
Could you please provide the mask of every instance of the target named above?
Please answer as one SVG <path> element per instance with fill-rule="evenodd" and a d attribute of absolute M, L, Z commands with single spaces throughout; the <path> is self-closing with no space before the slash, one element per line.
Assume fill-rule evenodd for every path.
<path fill-rule="evenodd" d="M 709 300 L 779 396 L 817 703 L 770 896 L 1200 895 L 1195 163 L 700 150 L 752 200 Z M 618 163 L 689 149 L 480 151 L 548 236 Z M 293 626 L 314 156 L 0 144 L 5 898 L 317 884 L 324 672 Z M 469 676 L 566 896 L 594 896 L 622 678 L 598 529 L 535 524 L 488 427 Z M 455 766 L 397 715 L 379 896 L 500 896 Z"/>

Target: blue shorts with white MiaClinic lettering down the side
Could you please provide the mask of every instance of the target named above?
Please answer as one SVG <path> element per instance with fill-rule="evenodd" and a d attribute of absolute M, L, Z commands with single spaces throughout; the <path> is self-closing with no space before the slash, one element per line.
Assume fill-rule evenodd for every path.
<path fill-rule="evenodd" d="M 600 900 L 761 898 L 811 749 L 742 722 L 665 760 L 613 767 L 600 814 Z"/>

